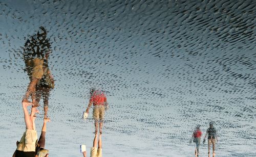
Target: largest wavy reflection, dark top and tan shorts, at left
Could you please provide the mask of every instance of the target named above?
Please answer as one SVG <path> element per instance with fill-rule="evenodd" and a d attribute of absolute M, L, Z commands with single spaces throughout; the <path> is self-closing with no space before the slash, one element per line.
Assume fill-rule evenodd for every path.
<path fill-rule="evenodd" d="M 47 32 L 45 28 L 40 27 L 40 31 L 28 39 L 24 46 L 24 61 L 26 71 L 28 72 L 30 83 L 27 92 L 23 98 L 23 102 L 31 102 L 28 100 L 29 96 L 32 98 L 33 106 L 38 106 L 35 97 L 35 86 L 44 75 L 44 59 L 50 50 L 49 39 L 46 38 Z"/>

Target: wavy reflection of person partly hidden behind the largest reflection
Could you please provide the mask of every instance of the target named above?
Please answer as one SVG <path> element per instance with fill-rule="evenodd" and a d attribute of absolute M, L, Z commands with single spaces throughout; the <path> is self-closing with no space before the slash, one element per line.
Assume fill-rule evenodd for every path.
<path fill-rule="evenodd" d="M 53 76 L 48 67 L 48 55 L 46 54 L 46 59 L 44 60 L 44 75 L 36 86 L 36 102 L 38 103 L 40 101 L 41 96 L 44 100 L 44 118 L 47 118 L 50 90 L 54 88 Z"/>

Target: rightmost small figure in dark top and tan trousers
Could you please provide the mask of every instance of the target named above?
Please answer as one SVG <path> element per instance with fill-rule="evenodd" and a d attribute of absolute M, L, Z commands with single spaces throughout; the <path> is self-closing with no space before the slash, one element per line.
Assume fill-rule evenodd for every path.
<path fill-rule="evenodd" d="M 210 157 L 210 146 L 212 144 L 212 156 L 215 156 L 215 145 L 217 143 L 217 132 L 214 127 L 214 123 L 210 122 L 209 123 L 210 127 L 206 130 L 206 134 L 204 137 L 203 143 L 205 143 L 205 138 L 208 135 L 208 157 Z"/>

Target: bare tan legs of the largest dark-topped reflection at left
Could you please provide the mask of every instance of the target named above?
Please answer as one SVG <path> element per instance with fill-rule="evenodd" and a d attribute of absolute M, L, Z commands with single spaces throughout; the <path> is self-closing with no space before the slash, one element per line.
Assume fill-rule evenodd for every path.
<path fill-rule="evenodd" d="M 30 103 L 30 101 L 28 100 L 29 96 L 31 96 L 32 98 L 32 106 L 37 106 L 36 104 L 36 97 L 35 97 L 35 86 L 38 83 L 39 79 L 36 79 L 35 77 L 32 78 L 32 80 L 29 83 L 27 92 L 22 100 L 22 102 L 27 102 Z"/>

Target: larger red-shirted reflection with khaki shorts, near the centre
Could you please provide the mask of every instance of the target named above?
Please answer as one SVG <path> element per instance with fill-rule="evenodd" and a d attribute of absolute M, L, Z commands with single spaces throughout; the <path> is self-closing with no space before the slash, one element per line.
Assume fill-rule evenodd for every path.
<path fill-rule="evenodd" d="M 88 108 L 86 113 L 89 113 L 90 107 L 94 106 L 93 108 L 93 118 L 95 121 L 95 134 L 99 133 L 102 134 L 102 127 L 103 127 L 103 120 L 105 114 L 105 106 L 108 106 L 108 102 L 106 101 L 106 95 L 101 90 L 91 89 L 91 97 L 90 102 L 88 104 Z M 99 125 L 99 127 L 98 127 Z"/>

